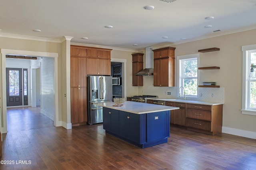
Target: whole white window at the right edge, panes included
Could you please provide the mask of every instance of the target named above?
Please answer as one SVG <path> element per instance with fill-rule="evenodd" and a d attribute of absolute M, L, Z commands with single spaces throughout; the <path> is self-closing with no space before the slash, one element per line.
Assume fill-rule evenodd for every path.
<path fill-rule="evenodd" d="M 242 46 L 242 113 L 256 115 L 256 45 Z"/>

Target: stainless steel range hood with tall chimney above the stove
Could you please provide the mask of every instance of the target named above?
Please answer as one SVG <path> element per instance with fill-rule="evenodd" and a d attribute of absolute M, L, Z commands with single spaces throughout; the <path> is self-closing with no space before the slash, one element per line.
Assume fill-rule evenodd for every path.
<path fill-rule="evenodd" d="M 136 76 L 152 76 L 154 74 L 153 69 L 153 51 L 152 47 L 146 47 L 146 68 L 141 70 Z"/>

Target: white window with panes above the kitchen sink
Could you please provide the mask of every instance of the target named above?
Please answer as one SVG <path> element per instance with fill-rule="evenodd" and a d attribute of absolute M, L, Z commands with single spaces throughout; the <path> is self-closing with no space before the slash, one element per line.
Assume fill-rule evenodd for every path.
<path fill-rule="evenodd" d="M 197 97 L 199 53 L 177 56 L 178 96 Z M 183 88 L 181 88 L 183 87 Z"/>

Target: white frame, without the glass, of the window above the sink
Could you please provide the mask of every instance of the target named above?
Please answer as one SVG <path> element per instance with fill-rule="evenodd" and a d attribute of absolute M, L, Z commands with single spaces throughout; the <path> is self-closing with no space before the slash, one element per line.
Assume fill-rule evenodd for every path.
<path fill-rule="evenodd" d="M 182 56 L 177 56 L 177 96 L 179 96 L 179 88 L 182 86 L 182 80 L 183 80 L 183 66 L 182 66 L 182 61 L 185 60 L 192 60 L 196 59 L 197 60 L 197 67 L 199 66 L 199 59 L 200 59 L 200 53 L 196 54 L 190 54 L 190 55 L 182 55 Z M 199 71 L 197 69 L 197 95 L 188 95 L 186 94 L 186 97 L 191 97 L 191 98 L 198 98 L 198 80 L 199 80 Z M 181 94 L 181 96 L 184 96 L 184 94 Z"/>

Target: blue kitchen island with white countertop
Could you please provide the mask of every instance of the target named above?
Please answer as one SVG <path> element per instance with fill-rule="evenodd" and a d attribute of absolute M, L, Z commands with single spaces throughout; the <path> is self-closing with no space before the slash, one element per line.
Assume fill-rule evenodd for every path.
<path fill-rule="evenodd" d="M 166 143 L 170 137 L 170 110 L 179 107 L 126 101 L 98 104 L 103 107 L 106 133 L 141 148 Z"/>

